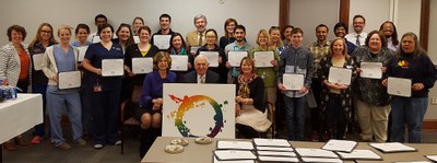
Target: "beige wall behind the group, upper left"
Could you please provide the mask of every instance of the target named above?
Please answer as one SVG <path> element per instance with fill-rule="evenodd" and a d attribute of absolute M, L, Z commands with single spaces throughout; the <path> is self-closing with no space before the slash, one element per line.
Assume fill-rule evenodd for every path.
<path fill-rule="evenodd" d="M 173 18 L 173 28 L 182 35 L 194 30 L 196 14 L 206 15 L 208 27 L 215 28 L 220 36 L 224 34 L 225 20 L 234 18 L 246 26 L 248 40 L 255 44 L 252 40 L 259 30 L 279 25 L 279 0 L 2 0 L 0 45 L 8 43 L 5 33 L 12 24 L 26 28 L 25 43 L 29 43 L 43 22 L 55 27 L 86 23 L 96 31 L 94 16 L 98 13 L 108 16 L 115 28 L 120 23 L 131 24 L 134 16 L 142 16 L 152 33 L 158 30 L 160 15 L 168 13 Z"/>

